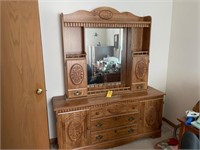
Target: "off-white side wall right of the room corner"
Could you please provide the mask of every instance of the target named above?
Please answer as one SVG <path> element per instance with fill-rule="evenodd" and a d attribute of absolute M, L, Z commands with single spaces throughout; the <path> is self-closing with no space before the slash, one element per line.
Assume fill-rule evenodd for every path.
<path fill-rule="evenodd" d="M 164 116 L 177 118 L 200 100 L 200 2 L 174 0 Z"/>

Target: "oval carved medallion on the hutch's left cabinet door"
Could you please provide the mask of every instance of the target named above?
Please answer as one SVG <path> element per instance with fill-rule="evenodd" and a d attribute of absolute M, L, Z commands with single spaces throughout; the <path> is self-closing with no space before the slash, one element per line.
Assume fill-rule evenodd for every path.
<path fill-rule="evenodd" d="M 73 84 L 81 84 L 84 78 L 83 67 L 79 64 L 74 64 L 70 70 L 70 79 Z"/>

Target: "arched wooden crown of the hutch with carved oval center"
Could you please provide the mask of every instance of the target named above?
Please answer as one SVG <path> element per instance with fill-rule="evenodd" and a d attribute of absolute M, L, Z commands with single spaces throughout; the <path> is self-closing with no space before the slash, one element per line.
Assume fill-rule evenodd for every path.
<path fill-rule="evenodd" d="M 151 17 L 138 17 L 130 12 L 119 12 L 111 7 L 92 11 L 79 10 L 61 14 L 64 27 L 150 27 Z"/>

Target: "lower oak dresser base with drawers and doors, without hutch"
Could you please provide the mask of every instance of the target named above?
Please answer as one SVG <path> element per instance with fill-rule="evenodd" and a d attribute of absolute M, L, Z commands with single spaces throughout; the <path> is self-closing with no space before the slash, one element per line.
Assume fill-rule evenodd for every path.
<path fill-rule="evenodd" d="M 149 87 L 111 98 L 53 97 L 59 148 L 108 148 L 141 137 L 159 137 L 163 96 Z"/>

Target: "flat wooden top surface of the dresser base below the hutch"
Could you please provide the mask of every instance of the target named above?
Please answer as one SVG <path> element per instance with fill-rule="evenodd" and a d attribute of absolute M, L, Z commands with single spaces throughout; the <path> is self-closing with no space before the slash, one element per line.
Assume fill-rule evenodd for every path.
<path fill-rule="evenodd" d="M 55 96 L 52 98 L 53 109 L 54 111 L 63 109 L 63 108 L 74 108 L 74 107 L 87 107 L 92 105 L 104 104 L 104 103 L 113 103 L 120 102 L 124 100 L 145 100 L 149 98 L 156 98 L 165 95 L 165 93 L 158 91 L 152 87 L 148 87 L 146 91 L 141 92 L 127 92 L 123 94 L 118 94 L 111 98 L 106 96 L 87 96 L 81 98 L 67 99 L 66 96 Z"/>

